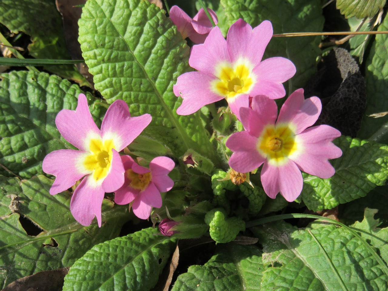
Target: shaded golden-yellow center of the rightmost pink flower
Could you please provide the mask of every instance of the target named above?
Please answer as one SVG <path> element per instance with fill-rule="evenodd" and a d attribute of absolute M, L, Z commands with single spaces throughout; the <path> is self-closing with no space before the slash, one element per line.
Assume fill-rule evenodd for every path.
<path fill-rule="evenodd" d="M 289 125 L 268 125 L 257 141 L 257 150 L 272 165 L 282 165 L 298 149 L 295 133 Z"/>

